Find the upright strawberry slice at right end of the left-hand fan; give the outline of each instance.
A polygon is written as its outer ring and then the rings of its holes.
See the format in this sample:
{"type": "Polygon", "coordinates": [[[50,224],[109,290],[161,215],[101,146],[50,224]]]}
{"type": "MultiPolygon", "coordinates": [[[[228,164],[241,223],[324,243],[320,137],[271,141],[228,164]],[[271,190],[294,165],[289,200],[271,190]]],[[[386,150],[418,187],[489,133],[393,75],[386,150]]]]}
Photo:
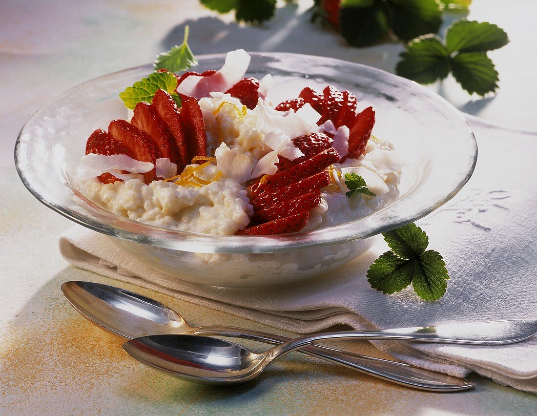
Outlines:
{"type": "Polygon", "coordinates": [[[198,100],[194,97],[183,98],[180,114],[185,127],[188,163],[190,163],[194,156],[207,156],[205,122],[198,100]]]}

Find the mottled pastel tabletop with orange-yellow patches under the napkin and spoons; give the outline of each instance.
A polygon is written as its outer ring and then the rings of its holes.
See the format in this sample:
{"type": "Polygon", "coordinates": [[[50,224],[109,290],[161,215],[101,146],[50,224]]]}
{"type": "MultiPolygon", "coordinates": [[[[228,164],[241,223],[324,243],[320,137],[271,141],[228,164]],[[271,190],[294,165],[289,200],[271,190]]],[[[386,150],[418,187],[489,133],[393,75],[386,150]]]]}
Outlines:
{"type": "MultiPolygon", "coordinates": [[[[520,0],[516,10],[508,2],[474,3],[468,18],[497,23],[512,40],[491,54],[500,72],[499,93],[484,99],[468,97],[450,79],[431,88],[483,119],[537,130],[535,54],[527,53],[535,51],[536,40],[527,33],[537,8],[520,0]]],[[[71,86],[151,61],[180,43],[185,23],[191,26],[190,44],[197,54],[243,47],[322,54],[393,70],[400,45],[347,48],[333,33],[307,23],[304,12],[310,4],[284,6],[263,27],[237,26],[231,16],[216,16],[197,0],[0,4],[4,102],[0,107],[4,195],[0,204],[0,413],[535,413],[535,396],[476,375],[469,377],[478,383],[473,391],[427,393],[297,353],[275,363],[252,383],[224,389],[185,383],[130,359],[121,350],[120,337],[91,325],[61,296],[60,285],[67,280],[120,283],[70,267],[61,258],[57,239],[72,223],[33,199],[13,166],[13,144],[23,123],[45,101],[71,86]],[[303,31],[308,31],[307,36],[303,31]]],[[[237,325],[296,335],[125,283],[121,286],[169,304],[193,325],[237,325]]],[[[340,346],[387,357],[368,342],[340,346]]]]}

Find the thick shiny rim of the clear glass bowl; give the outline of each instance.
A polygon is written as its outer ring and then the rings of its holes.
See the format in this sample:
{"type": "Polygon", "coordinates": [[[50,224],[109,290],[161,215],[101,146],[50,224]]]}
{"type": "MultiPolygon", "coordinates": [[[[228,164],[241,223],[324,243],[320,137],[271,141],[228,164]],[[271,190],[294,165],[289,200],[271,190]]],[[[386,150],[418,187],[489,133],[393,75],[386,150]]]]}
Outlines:
{"type": "MultiPolygon", "coordinates": [[[[91,218],[83,214],[79,214],[76,211],[69,209],[68,207],[64,207],[64,206],[54,203],[54,201],[47,200],[45,196],[43,196],[39,192],[39,189],[36,189],[32,186],[31,180],[26,176],[25,171],[23,170],[20,164],[20,158],[21,158],[19,155],[20,143],[21,143],[20,138],[25,132],[26,126],[30,124],[32,120],[34,120],[35,118],[38,118],[41,112],[45,111],[49,106],[52,106],[53,104],[55,104],[57,100],[60,100],[63,96],[66,96],[68,93],[77,89],[78,87],[84,86],[86,84],[90,84],[101,78],[118,75],[118,74],[128,72],[128,71],[148,69],[150,72],[151,70],[153,70],[153,64],[144,64],[144,65],[137,65],[136,67],[132,67],[132,68],[110,72],[109,74],[92,78],[89,81],[85,81],[83,83],[77,84],[71,87],[70,89],[64,91],[59,96],[47,101],[45,105],[40,107],[39,110],[36,111],[31,116],[31,118],[25,123],[25,125],[21,128],[19,135],[17,137],[17,141],[15,143],[14,162],[15,162],[15,166],[16,166],[16,169],[17,169],[17,172],[19,174],[21,181],[23,182],[24,186],[28,189],[28,191],[30,191],[30,193],[35,198],[37,198],[41,203],[43,203],[43,205],[47,206],[50,209],[53,209],[54,211],[61,214],[62,216],[69,218],[69,220],[79,225],[82,225],[85,228],[103,233],[111,237],[117,237],[117,238],[121,238],[124,240],[130,240],[132,242],[141,243],[141,244],[149,244],[153,246],[163,247],[165,249],[181,250],[181,251],[187,251],[187,252],[274,253],[274,252],[300,250],[300,249],[306,249],[310,247],[348,243],[354,240],[372,237],[382,232],[387,232],[387,231],[402,227],[402,225],[417,221],[419,220],[419,218],[422,218],[430,214],[432,211],[436,210],[437,208],[439,208],[440,206],[444,205],[446,202],[451,200],[453,196],[455,196],[460,191],[460,189],[468,182],[471,175],[473,174],[475,165],[477,162],[477,142],[475,140],[474,133],[472,132],[472,130],[470,129],[470,126],[468,125],[466,118],[463,116],[461,112],[456,110],[456,108],[453,107],[451,104],[449,104],[444,98],[438,96],[438,94],[432,92],[431,90],[426,89],[424,86],[416,82],[410,81],[409,79],[399,77],[395,74],[391,74],[390,72],[383,71],[378,68],[370,67],[369,65],[339,60],[339,59],[330,58],[330,57],[295,54],[295,53],[283,53],[283,52],[282,53],[248,52],[248,54],[251,55],[252,57],[254,56],[258,56],[258,57],[278,56],[278,57],[288,57],[289,59],[292,59],[292,58],[298,59],[302,57],[302,58],[307,58],[307,59],[319,60],[321,62],[325,62],[326,64],[331,63],[332,65],[333,64],[353,65],[355,68],[357,68],[361,72],[374,73],[376,76],[379,76],[381,78],[382,77],[387,77],[391,79],[395,78],[398,83],[401,83],[401,85],[411,87],[412,89],[417,89],[419,93],[425,94],[426,96],[429,96],[429,98],[432,98],[438,101],[439,104],[443,105],[446,110],[449,110],[452,113],[451,116],[453,116],[456,119],[459,119],[460,122],[466,125],[467,134],[468,134],[467,138],[469,138],[469,140],[471,141],[471,157],[469,158],[469,162],[467,163],[467,166],[466,166],[466,174],[461,176],[458,183],[449,192],[446,192],[444,194],[437,196],[437,198],[432,200],[429,203],[429,205],[423,206],[421,209],[416,210],[415,212],[411,213],[411,215],[393,216],[393,217],[390,217],[389,221],[386,221],[382,224],[375,225],[374,227],[372,225],[367,225],[366,227],[364,227],[364,229],[362,229],[359,232],[355,232],[355,230],[353,230],[353,227],[357,221],[364,220],[365,218],[371,219],[372,217],[374,217],[375,214],[380,213],[385,208],[379,211],[375,211],[374,213],[366,217],[358,218],[357,220],[345,222],[345,223],[338,224],[329,228],[322,228],[322,229],[311,230],[311,231],[300,231],[300,232],[288,233],[288,234],[280,234],[276,236],[220,236],[220,235],[210,235],[210,234],[202,234],[202,233],[195,233],[195,232],[188,232],[188,231],[179,231],[179,230],[174,230],[174,229],[164,229],[164,228],[156,227],[155,225],[143,224],[134,220],[129,220],[128,218],[125,218],[125,220],[133,222],[135,224],[134,227],[139,226],[140,229],[148,230],[150,232],[139,233],[139,232],[124,230],[118,227],[114,227],[113,225],[107,225],[98,221],[94,221],[91,218]],[[152,230],[153,232],[151,232],[152,230]]],[[[223,61],[225,57],[226,57],[226,54],[205,54],[205,55],[197,56],[197,59],[199,62],[202,62],[204,60],[209,60],[209,59],[220,59],[223,61]]],[[[66,187],[67,187],[67,184],[66,184],[66,187]]],[[[409,195],[405,199],[407,200],[412,199],[412,195],[409,195]]],[[[397,200],[395,200],[389,206],[393,205],[396,202],[397,200]]]]}

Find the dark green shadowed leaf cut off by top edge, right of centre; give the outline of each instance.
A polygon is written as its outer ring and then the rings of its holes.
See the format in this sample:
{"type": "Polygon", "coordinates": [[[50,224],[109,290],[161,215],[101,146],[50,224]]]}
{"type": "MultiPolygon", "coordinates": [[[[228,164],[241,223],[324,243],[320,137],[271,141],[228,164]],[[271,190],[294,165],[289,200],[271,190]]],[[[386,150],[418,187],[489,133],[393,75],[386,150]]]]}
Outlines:
{"type": "Polygon", "coordinates": [[[391,30],[409,41],[436,33],[443,6],[437,0],[343,0],[339,21],[343,37],[352,46],[371,46],[391,30]]]}

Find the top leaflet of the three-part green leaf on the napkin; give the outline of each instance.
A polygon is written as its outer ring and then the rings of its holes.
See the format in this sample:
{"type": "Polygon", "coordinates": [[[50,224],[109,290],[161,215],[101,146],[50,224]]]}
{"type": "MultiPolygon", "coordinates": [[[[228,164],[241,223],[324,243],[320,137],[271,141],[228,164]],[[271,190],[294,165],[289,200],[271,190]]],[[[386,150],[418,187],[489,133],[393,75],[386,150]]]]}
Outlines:
{"type": "Polygon", "coordinates": [[[413,222],[382,235],[391,251],[403,259],[419,257],[429,245],[429,237],[413,222]]]}

